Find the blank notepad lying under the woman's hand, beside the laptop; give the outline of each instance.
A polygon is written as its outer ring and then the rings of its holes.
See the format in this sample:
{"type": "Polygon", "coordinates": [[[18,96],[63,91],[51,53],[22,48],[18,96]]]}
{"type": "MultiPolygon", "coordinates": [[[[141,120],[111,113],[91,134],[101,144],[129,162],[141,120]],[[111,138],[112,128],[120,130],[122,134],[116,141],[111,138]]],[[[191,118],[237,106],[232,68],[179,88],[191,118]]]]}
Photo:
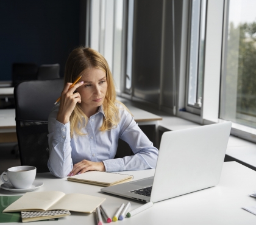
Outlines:
{"type": "Polygon", "coordinates": [[[104,184],[112,184],[114,182],[123,181],[127,178],[132,178],[130,175],[120,173],[106,173],[101,171],[87,171],[80,175],[71,176],[70,179],[79,179],[90,182],[99,182],[104,184]]]}

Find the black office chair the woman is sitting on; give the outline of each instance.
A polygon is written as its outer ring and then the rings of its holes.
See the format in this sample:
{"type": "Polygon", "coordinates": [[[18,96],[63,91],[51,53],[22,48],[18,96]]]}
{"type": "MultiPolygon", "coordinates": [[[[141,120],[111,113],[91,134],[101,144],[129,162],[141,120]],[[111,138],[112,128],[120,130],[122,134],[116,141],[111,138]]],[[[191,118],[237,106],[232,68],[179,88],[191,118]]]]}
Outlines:
{"type": "Polygon", "coordinates": [[[63,89],[63,78],[24,81],[15,86],[16,134],[21,165],[48,172],[48,116],[63,89]]]}

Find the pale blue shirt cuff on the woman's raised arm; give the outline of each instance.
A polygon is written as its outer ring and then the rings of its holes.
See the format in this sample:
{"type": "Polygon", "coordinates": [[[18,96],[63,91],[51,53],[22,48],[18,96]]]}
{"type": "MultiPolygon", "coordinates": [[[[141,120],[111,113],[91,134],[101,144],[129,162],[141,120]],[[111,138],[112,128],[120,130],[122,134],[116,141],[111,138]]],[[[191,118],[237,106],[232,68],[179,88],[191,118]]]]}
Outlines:
{"type": "Polygon", "coordinates": [[[63,124],[56,120],[53,138],[61,143],[70,142],[70,123],[63,124]]]}

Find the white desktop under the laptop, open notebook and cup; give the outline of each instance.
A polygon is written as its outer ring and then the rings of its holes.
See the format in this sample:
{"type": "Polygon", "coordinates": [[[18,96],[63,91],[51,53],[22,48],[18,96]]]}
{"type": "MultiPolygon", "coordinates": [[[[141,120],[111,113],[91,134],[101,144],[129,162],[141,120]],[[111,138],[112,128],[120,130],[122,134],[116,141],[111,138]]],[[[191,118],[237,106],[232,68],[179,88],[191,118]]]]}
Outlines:
{"type": "MultiPolygon", "coordinates": [[[[154,170],[122,171],[134,175],[134,180],[154,175],[154,170]]],[[[221,179],[218,185],[198,192],[178,196],[157,202],[151,208],[115,224],[256,224],[256,216],[243,206],[255,206],[256,199],[248,194],[256,190],[256,171],[237,162],[224,162],[221,179]]],[[[135,209],[141,202],[128,200],[102,193],[101,187],[66,181],[66,178],[54,178],[50,173],[38,173],[38,181],[44,185],[36,192],[59,190],[65,193],[84,193],[106,198],[103,206],[110,215],[114,215],[121,203],[130,201],[135,209]]],[[[2,181],[0,181],[2,184],[2,181]]],[[[0,195],[18,195],[0,189],[0,195]]],[[[94,213],[84,214],[71,212],[71,216],[59,221],[37,221],[30,224],[96,224],[94,213]]],[[[7,223],[6,223],[7,224],[7,223]]],[[[8,223],[9,224],[9,223],[8,223]]]]}

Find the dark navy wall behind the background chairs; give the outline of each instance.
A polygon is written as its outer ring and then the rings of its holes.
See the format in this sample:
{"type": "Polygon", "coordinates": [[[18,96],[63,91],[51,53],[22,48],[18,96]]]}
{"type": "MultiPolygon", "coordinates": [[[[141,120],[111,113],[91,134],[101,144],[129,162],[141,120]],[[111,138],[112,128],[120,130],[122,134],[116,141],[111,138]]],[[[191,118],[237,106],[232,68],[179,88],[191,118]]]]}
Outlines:
{"type": "Polygon", "coordinates": [[[79,45],[78,0],[0,1],[0,80],[12,80],[12,63],[60,64],[79,45]]]}

